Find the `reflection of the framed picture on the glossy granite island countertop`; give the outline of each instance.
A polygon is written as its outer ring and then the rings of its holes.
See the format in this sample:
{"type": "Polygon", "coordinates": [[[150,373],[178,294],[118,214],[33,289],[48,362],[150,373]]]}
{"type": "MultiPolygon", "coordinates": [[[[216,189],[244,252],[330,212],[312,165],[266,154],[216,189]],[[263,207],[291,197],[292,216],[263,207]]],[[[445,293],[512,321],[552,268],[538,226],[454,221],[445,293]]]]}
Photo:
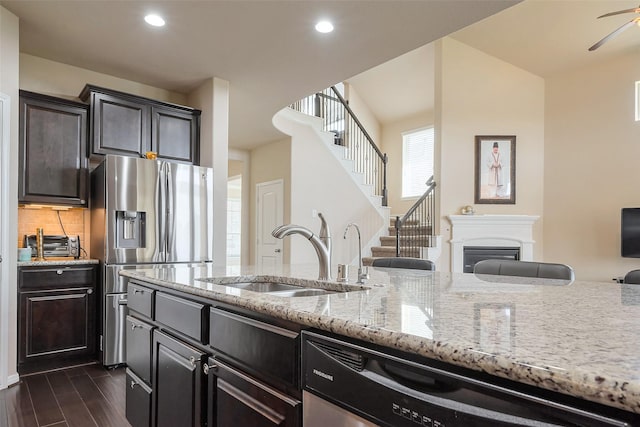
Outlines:
{"type": "Polygon", "coordinates": [[[513,304],[474,305],[476,344],[482,351],[511,351],[516,344],[516,307],[513,304]]]}

